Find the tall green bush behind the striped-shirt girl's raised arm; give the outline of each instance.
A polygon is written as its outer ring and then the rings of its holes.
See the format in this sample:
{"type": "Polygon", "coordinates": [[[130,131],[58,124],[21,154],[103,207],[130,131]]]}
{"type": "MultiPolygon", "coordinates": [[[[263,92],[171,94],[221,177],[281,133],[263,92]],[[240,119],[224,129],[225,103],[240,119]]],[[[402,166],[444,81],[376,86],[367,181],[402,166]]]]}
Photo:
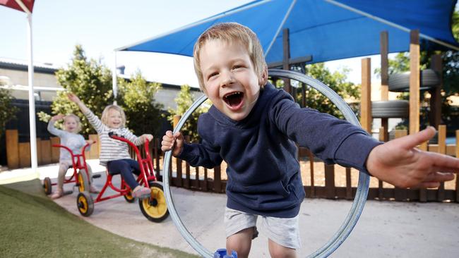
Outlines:
{"type": "MultiPolygon", "coordinates": [[[[78,106],[68,101],[66,94],[76,94],[96,116],[100,117],[105,106],[113,102],[110,70],[93,59],[88,61],[83,48],[76,45],[71,63],[66,68],[59,69],[56,78],[65,90],[58,92],[54,99],[51,105],[52,113],[74,113],[81,118],[81,133],[95,133],[78,106]]],[[[41,121],[47,122],[50,117],[45,113],[39,113],[41,121]]]]}

